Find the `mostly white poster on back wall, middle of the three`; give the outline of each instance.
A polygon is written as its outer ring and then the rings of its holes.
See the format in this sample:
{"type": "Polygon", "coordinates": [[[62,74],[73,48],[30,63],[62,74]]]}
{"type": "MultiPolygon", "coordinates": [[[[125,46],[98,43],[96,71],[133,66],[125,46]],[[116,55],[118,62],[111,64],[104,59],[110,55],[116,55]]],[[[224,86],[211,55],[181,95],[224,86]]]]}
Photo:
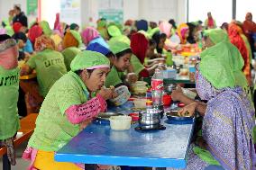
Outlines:
{"type": "Polygon", "coordinates": [[[60,21],[80,24],[81,10],[80,0],[61,0],[60,1],[60,21]]]}

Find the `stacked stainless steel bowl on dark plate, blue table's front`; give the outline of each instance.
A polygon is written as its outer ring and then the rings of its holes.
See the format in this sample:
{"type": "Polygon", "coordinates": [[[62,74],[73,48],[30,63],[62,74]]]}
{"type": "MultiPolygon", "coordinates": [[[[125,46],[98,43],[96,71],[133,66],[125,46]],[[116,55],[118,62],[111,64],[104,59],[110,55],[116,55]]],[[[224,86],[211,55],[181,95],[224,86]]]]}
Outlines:
{"type": "MultiPolygon", "coordinates": [[[[154,109],[152,109],[154,110],[154,109]]],[[[139,113],[139,124],[141,126],[152,126],[160,124],[160,112],[140,112],[139,113]]]]}

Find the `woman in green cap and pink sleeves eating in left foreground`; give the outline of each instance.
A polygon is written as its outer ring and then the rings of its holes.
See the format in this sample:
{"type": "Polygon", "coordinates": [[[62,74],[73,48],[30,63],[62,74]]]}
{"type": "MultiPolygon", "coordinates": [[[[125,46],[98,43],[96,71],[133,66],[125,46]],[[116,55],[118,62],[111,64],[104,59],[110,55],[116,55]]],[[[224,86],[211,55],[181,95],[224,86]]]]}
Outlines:
{"type": "Polygon", "coordinates": [[[41,170],[78,170],[84,165],[54,161],[54,152],[78,135],[99,112],[114,89],[104,87],[110,70],[109,60],[95,51],[85,50],[71,62],[71,71],[51,88],[41,105],[36,128],[23,158],[41,170]],[[97,92],[97,93],[96,93],[97,92]]]}

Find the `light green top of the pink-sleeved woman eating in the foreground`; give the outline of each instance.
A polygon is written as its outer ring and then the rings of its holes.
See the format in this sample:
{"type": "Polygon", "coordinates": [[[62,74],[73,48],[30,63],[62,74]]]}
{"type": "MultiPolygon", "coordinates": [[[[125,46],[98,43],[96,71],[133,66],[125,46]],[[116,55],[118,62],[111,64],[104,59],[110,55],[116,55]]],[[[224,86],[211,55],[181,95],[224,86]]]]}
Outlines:
{"type": "Polygon", "coordinates": [[[87,87],[77,74],[70,71],[59,78],[41,105],[29,146],[57,151],[77,136],[79,125],[70,123],[65,111],[72,105],[86,103],[87,99],[87,87]]]}

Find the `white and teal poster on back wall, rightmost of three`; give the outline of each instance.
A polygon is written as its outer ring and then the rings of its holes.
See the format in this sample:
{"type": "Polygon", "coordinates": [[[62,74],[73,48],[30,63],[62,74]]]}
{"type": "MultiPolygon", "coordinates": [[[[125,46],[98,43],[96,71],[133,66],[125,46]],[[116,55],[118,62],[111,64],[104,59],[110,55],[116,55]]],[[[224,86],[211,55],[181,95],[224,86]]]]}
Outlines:
{"type": "Polygon", "coordinates": [[[98,0],[98,16],[108,22],[123,23],[123,0],[98,0]]]}

